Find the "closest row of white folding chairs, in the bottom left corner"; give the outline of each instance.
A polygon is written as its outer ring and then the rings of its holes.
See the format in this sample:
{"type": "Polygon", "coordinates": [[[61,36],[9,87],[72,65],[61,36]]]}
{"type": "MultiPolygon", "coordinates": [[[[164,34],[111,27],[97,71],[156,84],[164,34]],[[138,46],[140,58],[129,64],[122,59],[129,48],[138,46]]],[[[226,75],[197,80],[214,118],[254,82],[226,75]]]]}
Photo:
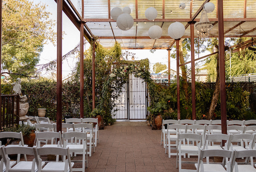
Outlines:
{"type": "MultiPolygon", "coordinates": [[[[37,148],[36,146],[31,147],[13,147],[8,148],[5,146],[0,147],[0,153],[2,159],[0,162],[0,171],[2,172],[72,172],[80,170],[73,169],[74,162],[71,162],[69,148],[61,147],[45,147],[37,148]],[[17,158],[16,161],[11,161],[9,155],[13,154],[27,154],[32,155],[33,161],[21,161],[17,158]],[[40,158],[41,155],[56,155],[56,161],[44,162],[40,158]],[[62,156],[62,162],[59,161],[59,155],[62,156]]],[[[83,172],[84,169],[81,169],[83,172]]]]}

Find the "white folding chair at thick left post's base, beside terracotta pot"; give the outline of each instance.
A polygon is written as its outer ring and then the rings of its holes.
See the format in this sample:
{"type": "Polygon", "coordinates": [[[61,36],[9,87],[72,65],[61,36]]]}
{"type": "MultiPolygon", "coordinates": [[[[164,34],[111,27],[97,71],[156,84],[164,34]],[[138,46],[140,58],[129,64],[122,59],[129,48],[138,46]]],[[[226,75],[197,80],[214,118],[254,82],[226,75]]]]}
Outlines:
{"type": "Polygon", "coordinates": [[[35,132],[36,134],[36,146],[40,147],[62,147],[62,138],[61,138],[61,131],[59,132],[52,132],[52,131],[44,131],[44,132],[35,132]],[[59,141],[57,141],[59,139],[59,141]],[[42,140],[50,140],[50,144],[48,141],[41,146],[42,140]]]}

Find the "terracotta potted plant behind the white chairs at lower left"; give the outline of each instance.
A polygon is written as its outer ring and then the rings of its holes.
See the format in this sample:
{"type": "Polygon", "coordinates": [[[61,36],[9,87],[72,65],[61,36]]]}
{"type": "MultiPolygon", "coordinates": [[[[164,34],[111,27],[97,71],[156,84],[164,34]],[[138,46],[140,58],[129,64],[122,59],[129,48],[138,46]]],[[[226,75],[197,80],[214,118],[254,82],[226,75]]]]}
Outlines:
{"type": "Polygon", "coordinates": [[[34,126],[29,126],[26,124],[15,125],[14,127],[4,128],[3,130],[11,132],[22,132],[24,144],[28,144],[29,147],[33,147],[36,138],[34,126]]]}

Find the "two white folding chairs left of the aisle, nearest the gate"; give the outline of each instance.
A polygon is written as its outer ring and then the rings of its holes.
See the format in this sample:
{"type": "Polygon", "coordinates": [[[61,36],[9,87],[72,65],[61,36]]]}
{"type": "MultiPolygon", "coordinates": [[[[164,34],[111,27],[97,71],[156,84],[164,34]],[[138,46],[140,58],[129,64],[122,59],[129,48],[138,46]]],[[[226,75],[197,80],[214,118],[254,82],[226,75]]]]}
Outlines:
{"type": "MultiPolygon", "coordinates": [[[[95,140],[95,146],[97,146],[97,141],[100,143],[99,139],[99,122],[98,118],[66,118],[66,123],[95,123],[96,125],[93,126],[93,133],[94,133],[94,140],[95,140]]],[[[72,129],[69,129],[69,131],[72,131],[72,129]]],[[[67,131],[68,132],[68,131],[67,131]]]]}

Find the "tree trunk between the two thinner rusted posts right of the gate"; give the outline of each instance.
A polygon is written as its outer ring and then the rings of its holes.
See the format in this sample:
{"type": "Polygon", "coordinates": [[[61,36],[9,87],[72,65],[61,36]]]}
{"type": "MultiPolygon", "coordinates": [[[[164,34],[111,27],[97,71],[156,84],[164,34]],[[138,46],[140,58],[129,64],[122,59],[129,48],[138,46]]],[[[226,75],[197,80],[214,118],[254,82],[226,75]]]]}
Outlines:
{"type": "MultiPolygon", "coordinates": [[[[183,57],[183,47],[182,45],[180,45],[179,47],[179,50],[180,50],[180,64],[183,64],[184,63],[184,57],[183,57]]],[[[185,65],[181,66],[180,67],[182,69],[182,78],[183,78],[183,84],[182,84],[182,88],[183,90],[185,91],[185,96],[186,96],[186,101],[187,101],[187,105],[189,103],[189,93],[188,93],[188,82],[187,82],[187,72],[186,72],[186,68],[185,68],[185,65]]]]}

